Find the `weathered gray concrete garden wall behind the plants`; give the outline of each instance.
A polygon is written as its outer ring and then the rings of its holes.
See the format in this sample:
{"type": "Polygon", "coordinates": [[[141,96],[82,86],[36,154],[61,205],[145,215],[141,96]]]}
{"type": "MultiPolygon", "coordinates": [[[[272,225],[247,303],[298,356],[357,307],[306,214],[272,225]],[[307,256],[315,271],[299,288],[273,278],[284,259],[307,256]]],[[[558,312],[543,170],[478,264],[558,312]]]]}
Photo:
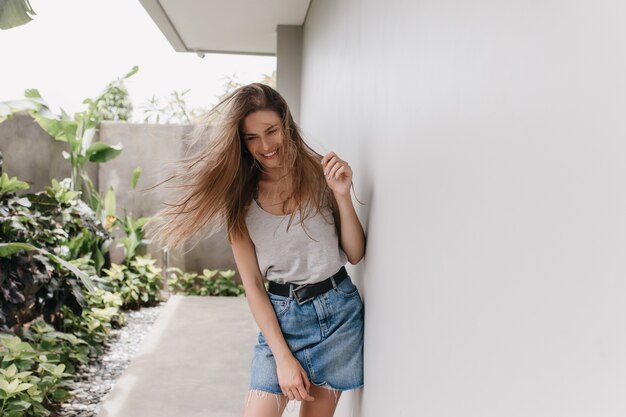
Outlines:
{"type": "MultiPolygon", "coordinates": [[[[160,186],[149,190],[168,175],[168,164],[181,158],[188,150],[187,134],[191,126],[103,122],[99,140],[122,144],[124,150],[115,159],[101,165],[90,164],[89,175],[101,193],[109,186],[116,191],[117,215],[124,210],[134,218],[155,214],[164,202],[172,202],[171,189],[160,186]],[[142,174],[135,191],[131,188],[132,171],[140,167],[142,174]],[[100,168],[100,169],[98,169],[100,168]]],[[[28,115],[17,115],[0,124],[0,152],[4,155],[4,172],[29,181],[29,191],[37,192],[50,184],[51,178],[70,175],[69,162],[61,152],[67,145],[52,139],[28,115]],[[36,152],[33,152],[36,149],[36,152]]],[[[149,251],[161,260],[159,247],[149,251]]],[[[113,260],[121,262],[123,253],[112,248],[113,260]]],[[[201,240],[195,247],[171,252],[170,265],[187,271],[235,269],[230,245],[223,231],[201,240]]]]}

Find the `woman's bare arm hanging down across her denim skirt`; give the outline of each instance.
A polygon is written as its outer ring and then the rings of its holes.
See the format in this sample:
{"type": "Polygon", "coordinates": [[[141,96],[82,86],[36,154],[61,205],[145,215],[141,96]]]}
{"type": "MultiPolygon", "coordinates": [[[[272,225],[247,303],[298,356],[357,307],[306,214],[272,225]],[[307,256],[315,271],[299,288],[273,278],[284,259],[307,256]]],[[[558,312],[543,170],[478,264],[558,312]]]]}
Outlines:
{"type": "Polygon", "coordinates": [[[278,325],[276,314],[267,297],[263,277],[259,270],[254,244],[250,236],[233,238],[231,242],[235,263],[241,275],[246,299],[252,316],[257,322],[276,361],[276,373],[280,387],[290,400],[312,401],[311,383],[300,362],[293,356],[278,325]]]}

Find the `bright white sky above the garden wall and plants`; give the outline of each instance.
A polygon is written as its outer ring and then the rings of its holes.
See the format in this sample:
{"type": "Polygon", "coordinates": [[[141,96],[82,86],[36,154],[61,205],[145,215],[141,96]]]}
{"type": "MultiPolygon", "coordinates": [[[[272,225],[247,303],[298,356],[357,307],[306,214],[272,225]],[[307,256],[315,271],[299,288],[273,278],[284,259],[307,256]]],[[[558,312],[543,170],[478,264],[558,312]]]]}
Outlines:
{"type": "MultiPolygon", "coordinates": [[[[20,99],[36,88],[54,111],[83,110],[85,98],[134,65],[125,81],[137,106],[172,90],[184,91],[190,107],[215,104],[225,75],[242,83],[271,74],[276,58],[175,52],[139,0],[30,0],[36,16],[0,30],[0,101],[20,99]]],[[[162,100],[163,102],[164,100],[162,100]]]]}

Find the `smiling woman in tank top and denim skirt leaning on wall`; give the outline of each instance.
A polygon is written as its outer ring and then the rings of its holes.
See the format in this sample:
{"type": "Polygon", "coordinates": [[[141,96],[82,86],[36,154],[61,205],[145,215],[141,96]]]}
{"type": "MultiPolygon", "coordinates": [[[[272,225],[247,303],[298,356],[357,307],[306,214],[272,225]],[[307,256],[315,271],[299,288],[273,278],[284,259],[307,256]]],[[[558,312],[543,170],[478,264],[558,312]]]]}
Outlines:
{"type": "Polygon", "coordinates": [[[173,177],[182,198],[150,233],[176,246],[227,228],[261,329],[244,416],[278,417],[288,400],[301,416],[332,416],[341,391],[363,385],[363,304],[344,268],[365,250],[352,169],[306,145],[271,87],[244,86],[220,107],[207,147],[173,177]]]}

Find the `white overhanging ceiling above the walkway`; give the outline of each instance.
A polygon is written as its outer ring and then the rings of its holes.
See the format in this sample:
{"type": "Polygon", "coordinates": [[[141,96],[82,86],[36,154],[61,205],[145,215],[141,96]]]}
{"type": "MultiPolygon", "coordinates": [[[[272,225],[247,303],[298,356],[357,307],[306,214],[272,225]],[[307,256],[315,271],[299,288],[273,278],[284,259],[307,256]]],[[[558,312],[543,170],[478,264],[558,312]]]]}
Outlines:
{"type": "Polygon", "coordinates": [[[310,0],[139,0],[179,52],[276,54],[276,26],[302,25],[310,0]]]}

